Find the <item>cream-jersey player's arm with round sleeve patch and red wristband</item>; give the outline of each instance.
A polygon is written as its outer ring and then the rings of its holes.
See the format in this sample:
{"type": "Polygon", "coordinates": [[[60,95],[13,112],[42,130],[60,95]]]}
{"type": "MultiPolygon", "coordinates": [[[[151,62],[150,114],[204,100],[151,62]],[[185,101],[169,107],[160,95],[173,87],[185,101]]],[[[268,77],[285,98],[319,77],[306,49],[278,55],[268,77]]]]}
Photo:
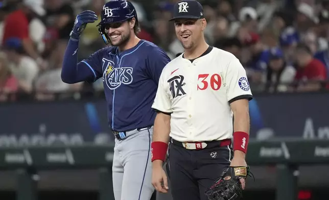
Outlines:
{"type": "Polygon", "coordinates": [[[246,76],[246,70],[237,58],[233,58],[225,73],[227,101],[233,112],[233,159],[240,160],[232,165],[245,165],[245,155],[249,140],[249,101],[252,93],[246,76]]]}

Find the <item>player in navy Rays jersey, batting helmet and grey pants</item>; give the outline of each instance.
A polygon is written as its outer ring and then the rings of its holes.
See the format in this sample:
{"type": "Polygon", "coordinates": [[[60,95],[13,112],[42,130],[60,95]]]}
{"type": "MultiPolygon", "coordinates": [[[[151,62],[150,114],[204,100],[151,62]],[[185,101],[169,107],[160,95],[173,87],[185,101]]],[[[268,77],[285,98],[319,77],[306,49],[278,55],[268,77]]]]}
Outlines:
{"type": "Polygon", "coordinates": [[[68,84],[103,79],[105,109],[115,135],[115,200],[148,200],[154,192],[150,148],[156,113],[151,106],[161,71],[170,58],[155,44],[137,38],[138,18],[130,2],[111,0],[104,5],[98,24],[101,37],[110,46],[77,63],[80,34],[95,20],[92,11],[77,16],[61,78],[68,84]]]}

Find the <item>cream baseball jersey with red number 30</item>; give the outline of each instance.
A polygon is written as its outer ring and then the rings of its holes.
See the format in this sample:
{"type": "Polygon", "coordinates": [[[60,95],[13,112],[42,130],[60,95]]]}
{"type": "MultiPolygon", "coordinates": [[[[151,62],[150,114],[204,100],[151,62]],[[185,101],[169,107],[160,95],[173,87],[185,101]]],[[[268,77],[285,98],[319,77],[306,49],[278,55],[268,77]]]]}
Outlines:
{"type": "Polygon", "coordinates": [[[162,70],[152,105],[171,114],[170,136],[180,142],[232,138],[230,103],[252,99],[246,71],[231,53],[209,46],[199,58],[181,54],[162,70]]]}

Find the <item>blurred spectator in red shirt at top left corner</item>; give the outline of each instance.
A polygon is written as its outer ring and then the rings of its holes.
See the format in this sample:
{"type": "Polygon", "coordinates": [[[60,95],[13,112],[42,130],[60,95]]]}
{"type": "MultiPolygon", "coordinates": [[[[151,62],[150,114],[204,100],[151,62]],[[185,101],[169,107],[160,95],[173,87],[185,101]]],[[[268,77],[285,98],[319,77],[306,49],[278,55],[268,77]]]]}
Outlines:
{"type": "Polygon", "coordinates": [[[8,38],[16,37],[22,40],[23,48],[27,54],[42,65],[43,60],[29,36],[29,21],[36,15],[43,16],[43,0],[23,0],[19,9],[10,13],[4,21],[3,43],[8,38]]]}

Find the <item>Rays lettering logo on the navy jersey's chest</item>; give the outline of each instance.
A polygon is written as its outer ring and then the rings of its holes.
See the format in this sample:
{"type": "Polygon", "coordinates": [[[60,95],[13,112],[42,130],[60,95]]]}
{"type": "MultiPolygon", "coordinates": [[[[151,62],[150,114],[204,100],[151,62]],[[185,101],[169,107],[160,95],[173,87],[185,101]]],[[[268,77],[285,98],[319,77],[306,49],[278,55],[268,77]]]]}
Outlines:
{"type": "Polygon", "coordinates": [[[103,58],[103,82],[110,90],[114,90],[121,84],[132,83],[132,67],[114,68],[114,62],[103,58]]]}

